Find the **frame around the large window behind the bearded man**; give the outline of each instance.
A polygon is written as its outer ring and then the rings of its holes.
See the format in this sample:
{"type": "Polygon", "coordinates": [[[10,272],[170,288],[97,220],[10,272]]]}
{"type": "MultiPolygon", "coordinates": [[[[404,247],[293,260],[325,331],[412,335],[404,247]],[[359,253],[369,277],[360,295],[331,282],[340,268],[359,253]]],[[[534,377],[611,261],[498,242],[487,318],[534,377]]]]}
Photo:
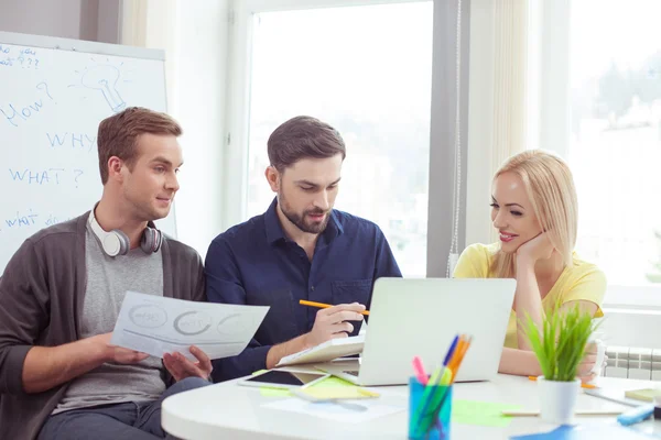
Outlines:
{"type": "MultiPolygon", "coordinates": [[[[430,183],[426,276],[445,276],[451,249],[455,195],[455,57],[457,4],[462,0],[232,0],[228,12],[229,59],[227,82],[227,133],[224,142],[221,229],[246,221],[250,121],[252,22],[261,12],[434,2],[432,62],[430,183]],[[453,33],[454,32],[454,33],[453,33]],[[440,40],[442,38],[442,41],[440,40]],[[441,41],[443,44],[437,44],[441,41]],[[452,66],[452,68],[451,68],[452,66]],[[448,147],[449,146],[449,147],[448,147]],[[434,227],[431,227],[434,226],[434,227]]],[[[469,1],[462,3],[462,168],[466,169],[468,112],[469,1]]],[[[459,184],[458,249],[465,246],[466,173],[459,184]]],[[[267,207],[264,207],[266,209],[267,207]]]]}

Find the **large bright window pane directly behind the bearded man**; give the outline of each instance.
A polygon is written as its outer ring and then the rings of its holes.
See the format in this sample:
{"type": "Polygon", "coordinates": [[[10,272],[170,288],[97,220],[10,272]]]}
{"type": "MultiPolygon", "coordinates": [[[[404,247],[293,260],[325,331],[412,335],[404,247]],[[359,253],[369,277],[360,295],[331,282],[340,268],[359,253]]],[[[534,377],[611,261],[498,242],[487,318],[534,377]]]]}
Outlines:
{"type": "Polygon", "coordinates": [[[405,276],[424,276],[433,2],[252,15],[246,218],[272,198],[267,140],[308,114],[347,144],[335,208],[376,222],[405,276]]]}

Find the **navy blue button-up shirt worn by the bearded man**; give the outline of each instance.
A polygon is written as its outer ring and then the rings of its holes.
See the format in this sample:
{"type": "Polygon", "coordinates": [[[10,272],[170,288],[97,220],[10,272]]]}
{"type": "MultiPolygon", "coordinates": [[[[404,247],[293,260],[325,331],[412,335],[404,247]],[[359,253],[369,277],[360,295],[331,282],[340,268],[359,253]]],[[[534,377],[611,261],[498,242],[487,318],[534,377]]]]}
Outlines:
{"type": "MultiPolygon", "coordinates": [[[[239,355],[214,362],[216,382],[251,374],[267,366],[267,353],[312,330],[317,308],[300,299],[326,304],[365,304],[373,282],[402,276],[386,237],[371,221],[333,210],[312,262],[288,239],[273,200],[267,212],[216,237],[207,252],[205,273],[209,301],[270,306],[254,339],[239,355]]],[[[360,323],[354,322],[358,334],[360,323]]]]}

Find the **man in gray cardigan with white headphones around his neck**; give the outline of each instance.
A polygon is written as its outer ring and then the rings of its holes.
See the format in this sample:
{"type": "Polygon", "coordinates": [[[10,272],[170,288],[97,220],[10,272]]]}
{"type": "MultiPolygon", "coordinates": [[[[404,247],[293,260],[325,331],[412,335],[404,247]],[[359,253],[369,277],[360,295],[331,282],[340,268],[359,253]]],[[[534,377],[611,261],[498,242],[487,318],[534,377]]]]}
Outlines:
{"type": "Polygon", "coordinates": [[[35,233],[0,277],[0,438],[155,439],[161,402],[207,385],[208,356],[163,360],[110,344],[127,290],[204,300],[202,260],[165,238],[182,130],[130,108],[101,121],[104,193],[91,211],[35,233]]]}

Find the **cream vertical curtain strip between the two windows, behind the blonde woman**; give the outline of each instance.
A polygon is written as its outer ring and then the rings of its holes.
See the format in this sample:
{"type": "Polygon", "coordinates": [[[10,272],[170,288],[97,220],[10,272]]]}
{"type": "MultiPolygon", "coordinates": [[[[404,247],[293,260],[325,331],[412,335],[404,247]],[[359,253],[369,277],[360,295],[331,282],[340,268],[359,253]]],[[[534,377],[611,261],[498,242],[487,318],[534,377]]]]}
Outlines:
{"type": "Polygon", "coordinates": [[[490,243],[491,178],[527,148],[530,0],[473,0],[466,243],[490,243]]]}

